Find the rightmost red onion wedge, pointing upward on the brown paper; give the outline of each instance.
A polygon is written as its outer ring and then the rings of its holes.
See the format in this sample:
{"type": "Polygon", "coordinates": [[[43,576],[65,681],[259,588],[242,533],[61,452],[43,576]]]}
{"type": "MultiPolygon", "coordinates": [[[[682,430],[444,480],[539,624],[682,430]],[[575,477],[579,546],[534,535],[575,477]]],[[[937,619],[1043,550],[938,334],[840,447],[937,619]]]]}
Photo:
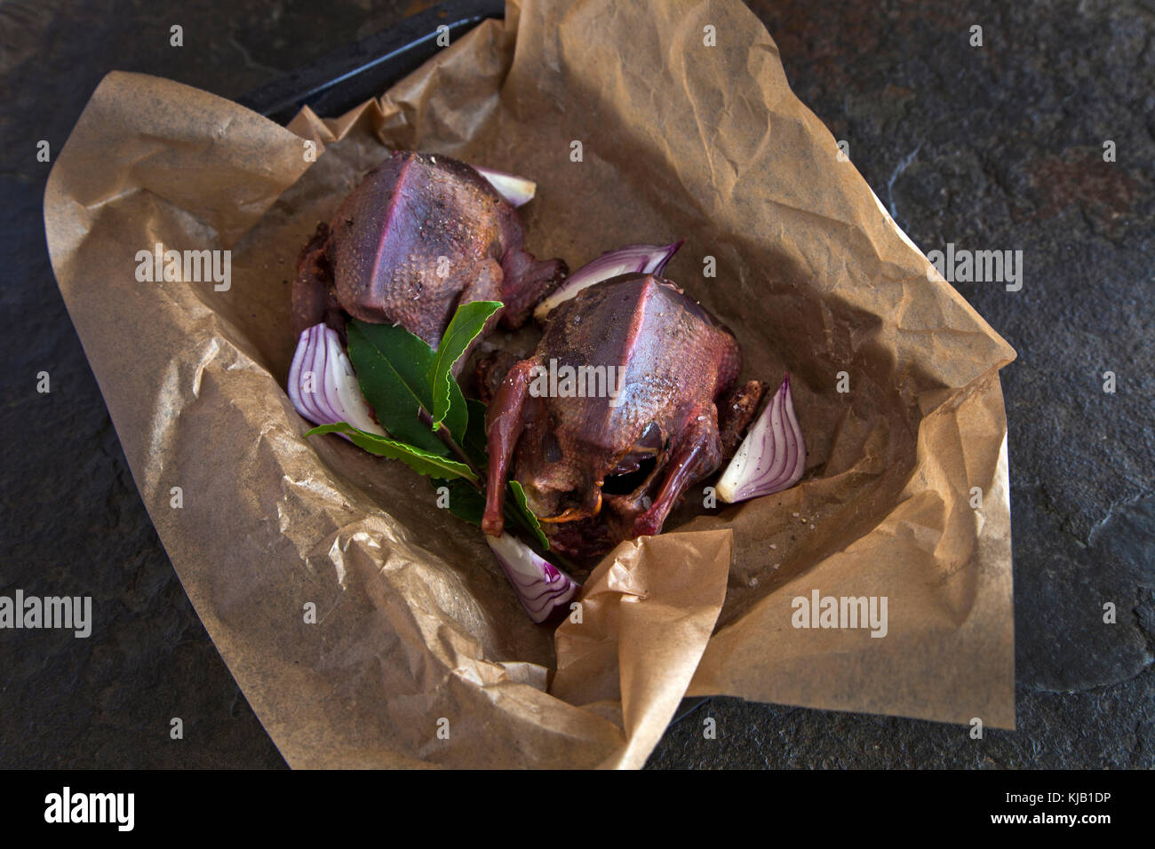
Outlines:
{"type": "Polygon", "coordinates": [[[790,394],[790,375],[774,393],[714,491],[733,504],[788,490],[806,470],[806,442],[798,427],[790,394]]]}

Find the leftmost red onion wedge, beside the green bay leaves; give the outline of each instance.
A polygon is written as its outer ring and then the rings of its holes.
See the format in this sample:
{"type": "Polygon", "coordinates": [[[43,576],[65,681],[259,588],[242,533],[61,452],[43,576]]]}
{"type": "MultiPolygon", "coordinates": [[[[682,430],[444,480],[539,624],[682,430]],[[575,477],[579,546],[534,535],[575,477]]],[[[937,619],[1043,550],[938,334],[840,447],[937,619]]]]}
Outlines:
{"type": "Polygon", "coordinates": [[[341,337],[328,325],[313,325],[301,333],[289,366],[288,389],[297,412],[313,424],[348,422],[363,431],[387,435],[362,395],[341,337]]]}

